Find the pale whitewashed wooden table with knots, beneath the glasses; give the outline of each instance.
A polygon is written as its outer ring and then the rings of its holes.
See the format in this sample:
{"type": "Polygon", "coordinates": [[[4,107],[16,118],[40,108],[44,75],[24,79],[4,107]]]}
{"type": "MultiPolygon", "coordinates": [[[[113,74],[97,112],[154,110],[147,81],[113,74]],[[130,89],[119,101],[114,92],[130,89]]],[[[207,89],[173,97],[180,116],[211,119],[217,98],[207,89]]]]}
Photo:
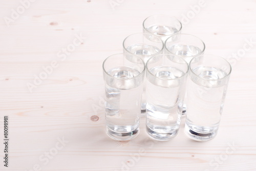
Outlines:
{"type": "Polygon", "coordinates": [[[0,1],[1,170],[256,170],[255,1],[30,1],[0,1]],[[219,133],[208,142],[188,139],[184,118],[166,142],[146,136],[144,118],[134,140],[105,133],[101,64],[159,13],[180,18],[205,54],[232,64],[219,133]]]}

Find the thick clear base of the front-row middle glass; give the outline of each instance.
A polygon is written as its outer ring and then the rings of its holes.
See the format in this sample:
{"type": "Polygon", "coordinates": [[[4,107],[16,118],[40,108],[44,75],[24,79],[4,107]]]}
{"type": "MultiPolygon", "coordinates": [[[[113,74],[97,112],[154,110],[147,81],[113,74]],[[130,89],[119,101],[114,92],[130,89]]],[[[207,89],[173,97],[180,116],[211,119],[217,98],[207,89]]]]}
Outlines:
{"type": "Polygon", "coordinates": [[[179,130],[177,129],[169,133],[159,133],[159,132],[153,131],[152,129],[150,129],[150,127],[146,126],[146,132],[154,140],[167,141],[169,139],[174,138],[178,134],[179,130]]]}

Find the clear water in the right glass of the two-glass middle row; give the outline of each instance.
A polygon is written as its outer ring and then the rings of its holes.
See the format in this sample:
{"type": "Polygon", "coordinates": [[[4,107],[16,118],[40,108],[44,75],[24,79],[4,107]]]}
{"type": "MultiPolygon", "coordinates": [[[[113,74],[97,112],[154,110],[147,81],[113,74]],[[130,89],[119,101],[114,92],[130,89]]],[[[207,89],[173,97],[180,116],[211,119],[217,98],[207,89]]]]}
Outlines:
{"type": "Polygon", "coordinates": [[[195,57],[202,52],[199,47],[182,44],[175,44],[167,47],[167,49],[173,54],[183,57],[187,63],[190,62],[192,57],[195,57]]]}

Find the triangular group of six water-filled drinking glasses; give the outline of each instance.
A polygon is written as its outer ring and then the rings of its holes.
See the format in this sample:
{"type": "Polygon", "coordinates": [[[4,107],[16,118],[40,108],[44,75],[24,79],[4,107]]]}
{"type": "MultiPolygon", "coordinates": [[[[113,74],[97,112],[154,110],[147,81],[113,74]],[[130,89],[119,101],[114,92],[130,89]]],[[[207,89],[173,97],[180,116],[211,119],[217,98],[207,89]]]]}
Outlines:
{"type": "Polygon", "coordinates": [[[143,33],[124,39],[123,54],[104,60],[106,132],[111,138],[135,138],[141,115],[155,140],[175,137],[182,115],[189,138],[216,136],[231,66],[222,57],[204,55],[204,42],[181,30],[175,17],[147,17],[143,33]]]}

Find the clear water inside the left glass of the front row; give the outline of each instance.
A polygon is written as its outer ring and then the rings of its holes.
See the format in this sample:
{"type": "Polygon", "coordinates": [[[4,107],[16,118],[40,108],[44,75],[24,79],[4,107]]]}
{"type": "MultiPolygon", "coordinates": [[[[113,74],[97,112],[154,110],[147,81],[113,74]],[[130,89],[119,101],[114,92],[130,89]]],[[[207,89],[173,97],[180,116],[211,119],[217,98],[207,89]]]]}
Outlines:
{"type": "MultiPolygon", "coordinates": [[[[105,85],[105,119],[111,135],[125,138],[139,127],[142,83],[131,79],[140,74],[130,67],[117,67],[108,71],[119,79],[110,79],[105,85]],[[122,134],[124,133],[124,134],[122,134]]],[[[136,132],[136,131],[135,131],[136,132]]]]}

